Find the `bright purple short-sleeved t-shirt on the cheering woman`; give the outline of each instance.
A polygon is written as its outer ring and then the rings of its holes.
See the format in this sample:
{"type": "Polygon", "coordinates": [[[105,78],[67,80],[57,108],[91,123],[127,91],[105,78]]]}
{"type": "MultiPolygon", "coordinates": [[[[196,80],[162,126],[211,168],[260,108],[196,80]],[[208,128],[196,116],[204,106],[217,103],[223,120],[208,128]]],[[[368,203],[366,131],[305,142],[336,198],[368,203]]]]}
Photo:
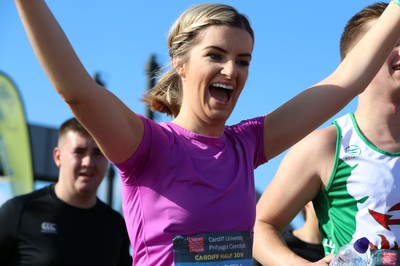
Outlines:
{"type": "Polygon", "coordinates": [[[173,265],[175,235],[252,232],[264,118],[227,126],[222,137],[142,120],[138,150],[116,164],[134,264],[173,265]]]}

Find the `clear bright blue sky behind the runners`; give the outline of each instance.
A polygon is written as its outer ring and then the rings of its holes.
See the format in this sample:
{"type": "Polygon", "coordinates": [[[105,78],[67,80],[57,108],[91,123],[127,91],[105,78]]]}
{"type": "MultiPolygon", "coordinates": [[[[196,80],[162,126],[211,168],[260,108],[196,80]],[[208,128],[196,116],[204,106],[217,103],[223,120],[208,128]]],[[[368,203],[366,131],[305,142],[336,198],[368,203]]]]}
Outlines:
{"type": "MultiPolygon", "coordinates": [[[[168,64],[170,25],[187,7],[201,2],[208,1],[47,1],[88,72],[99,72],[110,91],[142,114],[145,107],[139,99],[146,89],[144,68],[149,56],[155,54],[159,64],[168,64]]],[[[255,31],[248,82],[228,124],[271,112],[329,75],[340,62],[339,40],[347,20],[373,3],[219,2],[246,14],[255,31]]],[[[57,127],[71,112],[36,60],[13,1],[2,1],[0,25],[0,71],[17,85],[28,123],[57,127]]],[[[355,104],[335,117],[354,110],[355,104]]],[[[156,120],[169,118],[157,115],[156,120]]],[[[274,158],[256,170],[258,190],[268,185],[281,159],[274,158]]]]}

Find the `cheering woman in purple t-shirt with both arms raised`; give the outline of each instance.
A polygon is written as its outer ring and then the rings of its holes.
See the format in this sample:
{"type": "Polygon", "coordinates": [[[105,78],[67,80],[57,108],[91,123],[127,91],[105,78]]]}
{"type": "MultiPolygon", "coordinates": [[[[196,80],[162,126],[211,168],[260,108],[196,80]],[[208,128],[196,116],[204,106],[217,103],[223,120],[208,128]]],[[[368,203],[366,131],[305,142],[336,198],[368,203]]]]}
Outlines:
{"type": "Polygon", "coordinates": [[[168,35],[171,70],[144,97],[173,116],[155,123],[92,79],[44,1],[16,3],[54,88],[119,169],[135,265],[251,264],[253,170],[362,92],[400,36],[400,7],[390,4],[326,79],[268,115],[227,126],[248,77],[253,30],[231,6],[191,6],[168,35]]]}

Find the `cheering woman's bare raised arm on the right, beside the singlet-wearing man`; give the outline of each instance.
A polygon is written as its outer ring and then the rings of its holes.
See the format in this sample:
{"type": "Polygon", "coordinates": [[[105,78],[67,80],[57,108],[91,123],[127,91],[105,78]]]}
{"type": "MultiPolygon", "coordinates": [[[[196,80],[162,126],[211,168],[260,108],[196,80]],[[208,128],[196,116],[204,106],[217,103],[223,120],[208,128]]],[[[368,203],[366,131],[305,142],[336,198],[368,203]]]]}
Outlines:
{"type": "Polygon", "coordinates": [[[266,157],[285,151],[363,92],[399,38],[400,6],[392,1],[330,76],[265,117],[266,157]]]}

